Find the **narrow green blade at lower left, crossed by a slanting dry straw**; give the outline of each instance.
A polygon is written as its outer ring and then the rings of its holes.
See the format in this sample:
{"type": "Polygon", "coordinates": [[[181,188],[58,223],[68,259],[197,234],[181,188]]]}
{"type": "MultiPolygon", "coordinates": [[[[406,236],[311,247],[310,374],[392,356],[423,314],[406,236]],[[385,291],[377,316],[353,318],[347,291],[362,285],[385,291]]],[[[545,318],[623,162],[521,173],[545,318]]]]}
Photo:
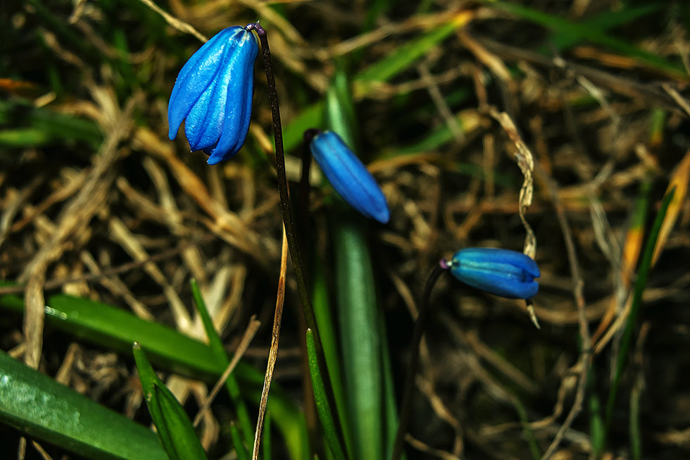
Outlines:
{"type": "MultiPolygon", "coordinates": [[[[225,353],[225,347],[222,345],[220,335],[218,335],[218,331],[216,331],[215,327],[213,326],[213,320],[208,314],[206,302],[203,301],[201,290],[199,290],[199,285],[194,279],[191,280],[190,284],[192,285],[192,297],[194,297],[196,311],[199,312],[201,323],[203,323],[203,328],[206,330],[208,344],[216,358],[222,362],[225,362],[225,365],[227,366],[227,364],[230,364],[230,358],[227,356],[227,353],[225,353]]],[[[242,394],[240,394],[239,384],[237,383],[234,373],[228,375],[227,380],[225,380],[225,387],[227,388],[227,392],[230,394],[232,403],[237,411],[237,420],[239,421],[239,427],[237,429],[240,431],[240,433],[242,433],[242,439],[244,439],[242,449],[244,449],[244,453],[249,456],[249,451],[246,449],[248,449],[248,447],[253,443],[253,430],[251,428],[252,425],[249,419],[249,410],[247,409],[246,404],[244,404],[244,399],[242,399],[242,394]]],[[[235,447],[239,449],[237,444],[235,444],[235,447]]],[[[239,456],[240,453],[238,452],[237,455],[239,456]]]]}

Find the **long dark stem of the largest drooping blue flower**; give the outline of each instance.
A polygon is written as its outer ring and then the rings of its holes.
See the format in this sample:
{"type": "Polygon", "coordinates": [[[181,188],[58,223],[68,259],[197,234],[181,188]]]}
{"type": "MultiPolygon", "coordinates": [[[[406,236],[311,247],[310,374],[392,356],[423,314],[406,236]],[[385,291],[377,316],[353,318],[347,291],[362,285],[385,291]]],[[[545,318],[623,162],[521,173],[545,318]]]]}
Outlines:
{"type": "Polygon", "coordinates": [[[255,30],[256,35],[258,35],[259,40],[261,41],[263,68],[266,72],[266,81],[268,82],[268,98],[270,99],[271,116],[273,118],[273,139],[275,139],[275,170],[278,180],[278,194],[280,194],[280,211],[282,213],[283,224],[285,226],[285,235],[287,236],[287,245],[290,250],[290,258],[292,259],[292,266],[295,271],[297,290],[299,291],[299,297],[302,303],[304,319],[307,323],[307,328],[311,329],[313,332],[316,357],[318,359],[319,367],[322,369],[322,378],[327,390],[327,396],[330,400],[331,406],[335,407],[332,386],[327,372],[326,359],[321,344],[321,337],[318,332],[318,325],[316,323],[314,309],[311,305],[311,297],[309,296],[309,289],[307,287],[306,277],[304,275],[302,257],[299,253],[294,222],[292,220],[289,189],[287,185],[287,177],[285,175],[285,153],[283,150],[282,124],[280,123],[280,109],[278,108],[278,95],[275,87],[275,77],[273,76],[273,71],[271,68],[268,37],[266,36],[266,31],[264,28],[258,23],[249,24],[244,28],[246,30],[255,30]]]}

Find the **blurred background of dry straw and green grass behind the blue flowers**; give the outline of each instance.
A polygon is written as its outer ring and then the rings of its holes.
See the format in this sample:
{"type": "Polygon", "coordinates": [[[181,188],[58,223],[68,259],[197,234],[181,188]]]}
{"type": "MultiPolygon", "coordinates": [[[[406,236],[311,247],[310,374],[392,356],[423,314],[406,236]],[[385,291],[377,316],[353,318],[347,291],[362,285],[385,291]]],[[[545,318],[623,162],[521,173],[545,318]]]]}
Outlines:
{"type": "MultiPolygon", "coordinates": [[[[261,64],[231,161],[209,167],[182,135],[170,142],[166,112],[200,40],[256,20],[293,197],[303,131],[332,128],[391,209],[388,225],[353,216],[318,170],[298,201],[345,455],[389,455],[434,264],[461,247],[522,249],[524,141],[541,328],[523,303],[441,278],[408,458],[686,457],[683,0],[2,1],[2,452],[165,458],[142,429],[152,419],[132,342],[194,419],[256,315],[261,328],[196,428],[209,459],[251,452],[282,231],[261,64]]],[[[288,278],[264,458],[334,453],[303,328],[288,278]]]]}

